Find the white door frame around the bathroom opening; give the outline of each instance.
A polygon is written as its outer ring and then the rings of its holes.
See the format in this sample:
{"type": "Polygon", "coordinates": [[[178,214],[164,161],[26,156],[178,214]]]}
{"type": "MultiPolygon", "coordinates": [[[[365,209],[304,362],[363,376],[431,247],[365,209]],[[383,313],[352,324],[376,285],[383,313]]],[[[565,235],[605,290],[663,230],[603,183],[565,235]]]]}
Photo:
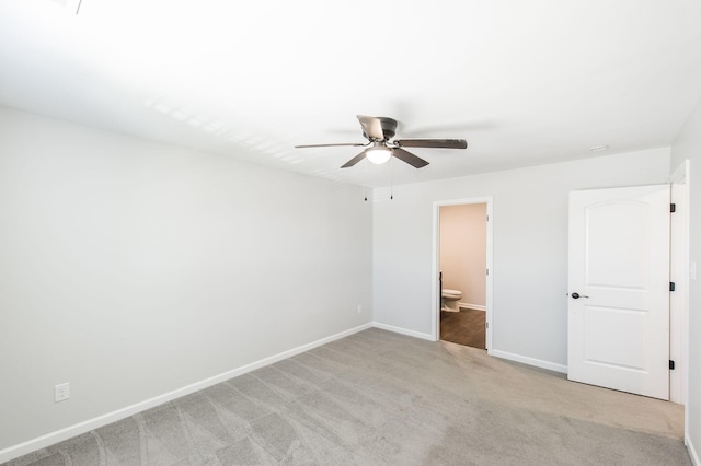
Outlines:
{"type": "Polygon", "coordinates": [[[434,341],[440,340],[440,289],[438,286],[438,273],[440,272],[440,208],[444,206],[463,206],[470,203],[486,205],[486,329],[485,343],[486,353],[492,354],[492,330],[494,329],[493,319],[493,197],[471,197],[466,199],[449,199],[434,201],[434,219],[433,219],[433,265],[432,265],[432,296],[433,296],[433,322],[430,325],[430,335],[434,341]]]}

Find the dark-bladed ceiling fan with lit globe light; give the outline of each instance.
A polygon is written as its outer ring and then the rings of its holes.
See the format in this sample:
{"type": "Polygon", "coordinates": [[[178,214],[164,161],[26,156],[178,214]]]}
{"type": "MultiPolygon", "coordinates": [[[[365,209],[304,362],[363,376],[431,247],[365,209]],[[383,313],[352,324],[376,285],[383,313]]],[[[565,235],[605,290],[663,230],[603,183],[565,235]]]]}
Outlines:
{"type": "Polygon", "coordinates": [[[363,127],[363,137],[368,140],[366,143],[336,143],[336,144],[303,144],[295,148],[331,148],[338,145],[364,147],[365,150],[343,164],[342,168],[347,168],[368,159],[372,163],[384,163],[394,156],[415,168],[428,165],[428,162],[404,150],[403,148],[437,148],[437,149],[467,149],[468,142],[464,139],[397,139],[397,120],[387,117],[371,117],[358,115],[358,121],[363,127]]]}

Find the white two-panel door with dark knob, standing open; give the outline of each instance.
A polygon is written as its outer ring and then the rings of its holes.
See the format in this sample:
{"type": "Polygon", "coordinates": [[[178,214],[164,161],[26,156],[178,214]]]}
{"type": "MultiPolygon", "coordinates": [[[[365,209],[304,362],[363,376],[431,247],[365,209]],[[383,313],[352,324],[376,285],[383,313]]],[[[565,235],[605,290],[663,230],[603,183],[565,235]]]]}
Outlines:
{"type": "Polygon", "coordinates": [[[570,193],[571,381],[669,399],[669,186],[570,193]]]}

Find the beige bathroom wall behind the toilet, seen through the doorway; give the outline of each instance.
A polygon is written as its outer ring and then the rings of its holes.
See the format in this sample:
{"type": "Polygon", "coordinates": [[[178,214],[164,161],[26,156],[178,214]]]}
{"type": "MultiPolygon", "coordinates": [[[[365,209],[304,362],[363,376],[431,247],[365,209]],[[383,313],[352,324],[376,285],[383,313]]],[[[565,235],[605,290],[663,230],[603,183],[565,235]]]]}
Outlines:
{"type": "Polygon", "coordinates": [[[443,288],[460,290],[459,301],[486,306],[486,203],[440,207],[443,288]]]}

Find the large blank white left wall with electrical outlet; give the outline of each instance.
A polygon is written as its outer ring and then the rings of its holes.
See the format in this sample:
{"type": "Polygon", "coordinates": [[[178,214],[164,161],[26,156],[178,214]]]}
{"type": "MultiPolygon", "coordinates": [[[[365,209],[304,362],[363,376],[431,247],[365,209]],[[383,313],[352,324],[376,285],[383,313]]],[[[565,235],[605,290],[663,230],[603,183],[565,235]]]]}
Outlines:
{"type": "Polygon", "coordinates": [[[363,198],[0,107],[0,453],[370,323],[363,198]]]}

